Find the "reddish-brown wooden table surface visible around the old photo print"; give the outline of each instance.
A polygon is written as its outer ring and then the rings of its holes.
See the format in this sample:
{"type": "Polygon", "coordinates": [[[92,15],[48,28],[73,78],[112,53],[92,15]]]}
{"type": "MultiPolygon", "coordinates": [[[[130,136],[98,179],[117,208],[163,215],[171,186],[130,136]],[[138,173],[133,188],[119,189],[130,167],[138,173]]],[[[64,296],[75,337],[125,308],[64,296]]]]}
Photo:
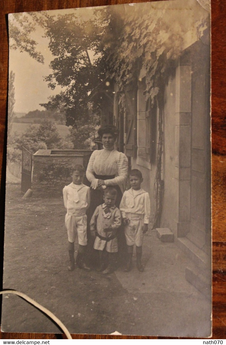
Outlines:
{"type": "MultiPolygon", "coordinates": [[[[0,165],[2,166],[1,179],[1,224],[4,219],[4,184],[6,164],[6,105],[7,105],[7,80],[8,80],[8,38],[6,14],[14,12],[41,11],[53,9],[65,9],[88,6],[103,6],[130,2],[144,2],[144,0],[1,0],[0,1],[0,165]]],[[[198,0],[200,2],[200,0],[198,0]]],[[[201,1],[202,2],[202,1],[201,1]]],[[[220,121],[221,130],[213,129],[212,141],[224,142],[226,134],[226,1],[212,0],[212,118],[220,121]]],[[[226,147],[222,151],[226,152],[226,147]]],[[[217,167],[213,164],[213,173],[217,167]]],[[[224,181],[224,184],[226,181],[224,181]]],[[[223,186],[225,187],[225,185],[223,186]]],[[[224,190],[225,188],[223,188],[224,190]]],[[[216,190],[213,194],[217,198],[216,190]]],[[[215,198],[215,199],[216,199],[215,198]]],[[[213,336],[212,339],[226,338],[226,231],[225,231],[225,205],[213,203],[213,336]],[[223,207],[222,207],[223,206],[223,207]]],[[[2,229],[2,226],[1,226],[2,229]]],[[[3,236],[1,236],[2,239],[3,236]]],[[[3,242],[3,241],[2,241],[3,242]]],[[[3,244],[0,243],[0,253],[3,244]]],[[[0,277],[2,276],[2,263],[0,265],[0,277]]],[[[0,280],[0,284],[2,281],[0,280]]],[[[2,285],[0,285],[2,286],[2,285]]],[[[62,336],[65,338],[65,336],[62,336]]],[[[1,333],[0,339],[59,339],[61,335],[37,334],[37,333],[1,333]]],[[[75,339],[108,339],[114,336],[104,335],[73,335],[75,339]]],[[[118,336],[116,338],[130,338],[118,336]]],[[[135,337],[131,337],[135,338],[135,337]]],[[[136,337],[141,339],[155,337],[136,337]]]]}

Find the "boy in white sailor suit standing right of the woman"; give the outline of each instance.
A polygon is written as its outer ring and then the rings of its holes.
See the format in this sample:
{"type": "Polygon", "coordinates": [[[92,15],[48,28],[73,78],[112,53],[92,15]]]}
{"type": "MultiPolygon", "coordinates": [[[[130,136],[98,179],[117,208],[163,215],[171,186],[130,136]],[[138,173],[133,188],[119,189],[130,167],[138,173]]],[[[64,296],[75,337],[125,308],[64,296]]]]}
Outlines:
{"type": "Polygon", "coordinates": [[[142,182],[143,177],[140,170],[133,169],[129,172],[131,188],[124,192],[119,206],[122,221],[125,225],[128,254],[125,272],[129,272],[132,269],[134,244],[136,245],[137,268],[139,272],[144,271],[144,266],[141,264],[141,256],[144,234],[148,230],[150,218],[150,199],[148,193],[140,187],[142,182]]]}

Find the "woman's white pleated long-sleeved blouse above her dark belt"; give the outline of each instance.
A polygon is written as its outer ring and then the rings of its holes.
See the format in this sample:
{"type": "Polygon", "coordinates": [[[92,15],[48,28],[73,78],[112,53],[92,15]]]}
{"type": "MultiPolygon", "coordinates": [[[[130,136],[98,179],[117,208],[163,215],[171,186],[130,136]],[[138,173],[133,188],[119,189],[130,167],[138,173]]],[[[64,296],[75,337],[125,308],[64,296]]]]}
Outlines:
{"type": "Polygon", "coordinates": [[[91,183],[97,180],[94,173],[96,175],[116,175],[115,178],[105,180],[105,185],[121,187],[127,179],[128,159],[124,153],[115,149],[95,150],[89,159],[86,170],[86,177],[91,183]]]}

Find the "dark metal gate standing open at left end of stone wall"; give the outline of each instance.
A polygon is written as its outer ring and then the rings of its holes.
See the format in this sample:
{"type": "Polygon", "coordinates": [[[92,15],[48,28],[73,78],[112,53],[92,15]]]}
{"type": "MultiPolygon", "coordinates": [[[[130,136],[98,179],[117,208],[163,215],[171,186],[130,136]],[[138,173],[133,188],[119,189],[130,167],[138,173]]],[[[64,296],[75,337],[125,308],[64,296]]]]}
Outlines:
{"type": "Polygon", "coordinates": [[[31,188],[32,152],[22,146],[21,192],[26,193],[31,188]]]}

